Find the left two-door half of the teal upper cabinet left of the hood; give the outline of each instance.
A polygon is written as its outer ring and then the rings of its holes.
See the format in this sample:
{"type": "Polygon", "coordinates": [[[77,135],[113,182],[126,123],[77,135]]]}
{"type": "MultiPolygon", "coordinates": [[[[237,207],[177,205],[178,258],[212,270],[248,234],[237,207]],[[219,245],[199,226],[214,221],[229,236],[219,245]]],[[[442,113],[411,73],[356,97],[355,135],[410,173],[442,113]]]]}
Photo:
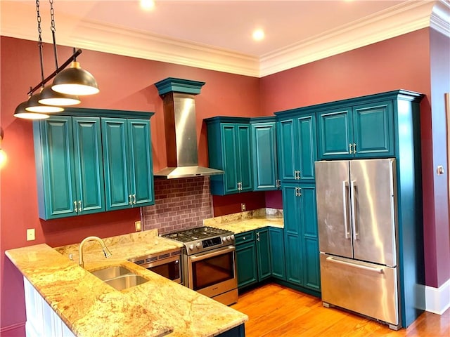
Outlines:
{"type": "Polygon", "coordinates": [[[39,218],[105,211],[100,118],[52,116],[33,132],[39,218]]]}

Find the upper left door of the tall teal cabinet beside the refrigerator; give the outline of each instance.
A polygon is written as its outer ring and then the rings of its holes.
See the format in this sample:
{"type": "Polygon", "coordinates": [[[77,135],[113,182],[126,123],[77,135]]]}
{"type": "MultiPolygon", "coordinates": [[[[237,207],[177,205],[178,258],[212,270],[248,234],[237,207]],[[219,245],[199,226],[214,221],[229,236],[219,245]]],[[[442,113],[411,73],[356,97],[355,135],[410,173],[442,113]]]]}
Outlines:
{"type": "Polygon", "coordinates": [[[277,140],[278,140],[278,167],[280,179],[284,182],[295,181],[295,131],[294,119],[278,121],[277,140]]]}

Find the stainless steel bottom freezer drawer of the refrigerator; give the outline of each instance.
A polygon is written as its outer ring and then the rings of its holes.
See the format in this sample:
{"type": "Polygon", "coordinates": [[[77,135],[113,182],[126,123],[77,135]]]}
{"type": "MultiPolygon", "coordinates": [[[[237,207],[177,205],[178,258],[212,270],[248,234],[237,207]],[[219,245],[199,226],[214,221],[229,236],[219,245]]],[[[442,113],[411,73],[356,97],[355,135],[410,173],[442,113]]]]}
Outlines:
{"type": "Polygon", "coordinates": [[[321,253],[321,285],[323,302],[399,325],[397,267],[321,253]]]}

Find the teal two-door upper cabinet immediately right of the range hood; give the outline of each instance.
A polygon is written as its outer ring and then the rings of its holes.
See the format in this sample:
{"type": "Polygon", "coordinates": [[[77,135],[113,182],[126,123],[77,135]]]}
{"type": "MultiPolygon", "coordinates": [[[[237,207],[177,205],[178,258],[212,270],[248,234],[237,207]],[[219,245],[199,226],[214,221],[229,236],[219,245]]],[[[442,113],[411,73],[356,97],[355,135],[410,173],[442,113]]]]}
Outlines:
{"type": "Polygon", "coordinates": [[[213,117],[205,119],[209,166],[224,171],[211,176],[211,194],[225,195],[253,190],[250,119],[213,117]]]}

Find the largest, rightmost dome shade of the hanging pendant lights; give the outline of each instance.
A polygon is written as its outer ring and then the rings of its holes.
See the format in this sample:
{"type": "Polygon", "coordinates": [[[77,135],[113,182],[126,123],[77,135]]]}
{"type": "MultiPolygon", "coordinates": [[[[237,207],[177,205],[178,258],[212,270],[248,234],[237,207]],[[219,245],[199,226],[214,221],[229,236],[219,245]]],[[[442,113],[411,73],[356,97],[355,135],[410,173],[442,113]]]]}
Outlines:
{"type": "Polygon", "coordinates": [[[73,61],[70,68],[63,70],[53,79],[51,88],[69,95],[94,95],[98,93],[97,81],[92,74],[73,61]]]}

